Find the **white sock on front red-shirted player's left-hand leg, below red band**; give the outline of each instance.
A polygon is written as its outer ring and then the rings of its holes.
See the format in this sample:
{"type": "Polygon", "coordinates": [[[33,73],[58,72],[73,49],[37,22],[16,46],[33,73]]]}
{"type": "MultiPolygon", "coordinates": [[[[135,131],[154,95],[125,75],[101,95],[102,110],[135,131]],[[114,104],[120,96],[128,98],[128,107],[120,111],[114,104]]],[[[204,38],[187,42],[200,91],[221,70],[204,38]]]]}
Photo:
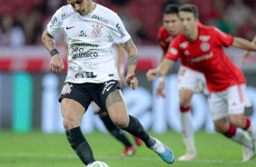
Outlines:
{"type": "Polygon", "coordinates": [[[242,145],[253,149],[252,138],[249,133],[243,131],[241,128],[236,128],[236,133],[231,137],[234,142],[239,142],[242,145]]]}

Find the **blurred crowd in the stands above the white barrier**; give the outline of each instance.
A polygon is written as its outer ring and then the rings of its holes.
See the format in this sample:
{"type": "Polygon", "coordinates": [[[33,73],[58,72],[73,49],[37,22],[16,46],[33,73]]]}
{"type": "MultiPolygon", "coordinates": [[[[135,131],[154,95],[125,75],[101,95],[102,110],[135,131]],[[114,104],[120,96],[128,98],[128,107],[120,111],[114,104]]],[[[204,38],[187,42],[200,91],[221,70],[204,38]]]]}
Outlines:
{"type": "MultiPolygon", "coordinates": [[[[1,0],[0,46],[42,44],[41,35],[66,0],[1,0]],[[3,2],[2,2],[3,1],[3,2]]],[[[135,44],[157,44],[162,10],[168,4],[197,5],[204,25],[251,40],[256,34],[256,0],[94,0],[116,12],[135,44]]],[[[64,44],[64,37],[57,38],[64,44]]]]}

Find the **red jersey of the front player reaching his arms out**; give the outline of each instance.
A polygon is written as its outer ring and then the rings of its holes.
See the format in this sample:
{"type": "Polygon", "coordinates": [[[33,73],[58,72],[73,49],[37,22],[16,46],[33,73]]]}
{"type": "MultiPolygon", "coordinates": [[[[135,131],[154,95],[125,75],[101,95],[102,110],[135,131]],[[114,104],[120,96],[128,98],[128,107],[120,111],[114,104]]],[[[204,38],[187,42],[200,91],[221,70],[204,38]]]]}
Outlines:
{"type": "Polygon", "coordinates": [[[205,75],[210,92],[222,92],[232,85],[246,83],[241,70],[222,49],[232,44],[233,37],[214,26],[202,25],[198,30],[194,41],[189,41],[184,34],[176,36],[165,57],[174,61],[179,57],[189,60],[205,75]]]}

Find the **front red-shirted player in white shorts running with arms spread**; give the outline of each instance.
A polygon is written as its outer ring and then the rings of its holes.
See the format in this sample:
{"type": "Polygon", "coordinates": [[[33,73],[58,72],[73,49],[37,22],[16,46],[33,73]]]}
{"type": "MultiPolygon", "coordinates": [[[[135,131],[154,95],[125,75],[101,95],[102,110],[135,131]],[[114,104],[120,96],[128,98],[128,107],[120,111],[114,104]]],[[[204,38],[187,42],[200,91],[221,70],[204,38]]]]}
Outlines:
{"type": "Polygon", "coordinates": [[[243,161],[251,161],[255,155],[253,143],[255,145],[256,127],[251,124],[249,117],[243,115],[244,108],[250,105],[246,80],[241,70],[228,59],[222,46],[233,45],[243,50],[256,51],[256,45],[225,34],[214,26],[197,26],[198,12],[195,5],[182,5],[179,17],[182,34],[172,41],[162,64],[148,71],[148,79],[166,75],[179,57],[195,65],[206,77],[215,131],[241,143],[247,148],[243,161]]]}

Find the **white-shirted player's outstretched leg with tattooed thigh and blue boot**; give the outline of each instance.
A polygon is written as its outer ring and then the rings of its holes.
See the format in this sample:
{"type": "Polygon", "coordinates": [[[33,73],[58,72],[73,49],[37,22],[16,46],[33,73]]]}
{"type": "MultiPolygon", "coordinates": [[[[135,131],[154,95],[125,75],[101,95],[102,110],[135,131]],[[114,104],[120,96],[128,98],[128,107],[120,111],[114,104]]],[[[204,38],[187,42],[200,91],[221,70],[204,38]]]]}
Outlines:
{"type": "Polygon", "coordinates": [[[145,142],[148,148],[156,152],[164,162],[174,162],[172,150],[165,146],[162,142],[150,136],[143,128],[142,123],[132,115],[129,115],[124,103],[123,93],[119,89],[115,89],[110,93],[105,101],[106,109],[117,126],[124,131],[133,134],[145,142]]]}

